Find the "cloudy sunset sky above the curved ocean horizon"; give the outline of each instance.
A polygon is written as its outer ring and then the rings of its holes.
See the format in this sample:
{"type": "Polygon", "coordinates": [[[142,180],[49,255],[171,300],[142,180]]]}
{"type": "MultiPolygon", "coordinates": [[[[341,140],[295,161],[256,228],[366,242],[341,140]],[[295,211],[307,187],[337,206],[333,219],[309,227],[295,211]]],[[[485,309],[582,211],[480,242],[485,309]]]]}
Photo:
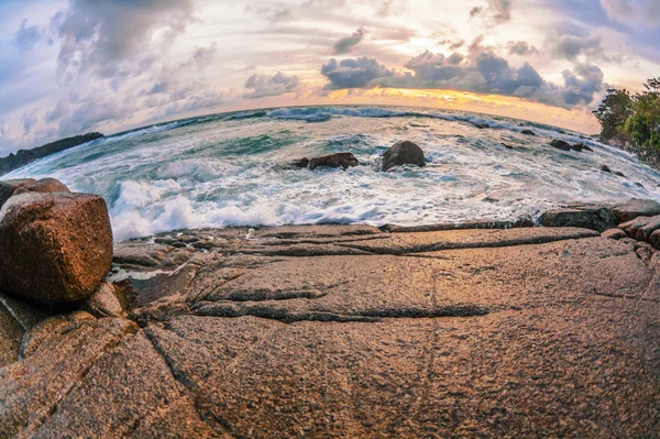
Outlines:
{"type": "Polygon", "coordinates": [[[660,0],[0,0],[0,155],[224,111],[397,105],[595,133],[660,0]]]}

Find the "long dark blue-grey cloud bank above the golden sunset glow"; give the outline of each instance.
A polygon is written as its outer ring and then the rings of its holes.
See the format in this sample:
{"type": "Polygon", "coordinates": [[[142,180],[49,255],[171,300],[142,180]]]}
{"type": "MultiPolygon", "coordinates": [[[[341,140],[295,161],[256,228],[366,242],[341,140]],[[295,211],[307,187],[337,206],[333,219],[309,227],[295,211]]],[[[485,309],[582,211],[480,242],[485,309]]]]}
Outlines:
{"type": "MultiPolygon", "coordinates": [[[[474,46],[474,44],[473,44],[474,46]]],[[[479,45],[477,45],[479,48],[479,45]]],[[[332,59],[321,73],[326,88],[428,88],[514,96],[551,106],[570,108],[590,105],[603,90],[603,72],[594,65],[578,64],[564,70],[562,86],[546,81],[528,63],[513,67],[490,50],[479,48],[470,58],[461,54],[446,57],[425,52],[405,64],[411,73],[395,73],[375,58],[332,59]]]]}

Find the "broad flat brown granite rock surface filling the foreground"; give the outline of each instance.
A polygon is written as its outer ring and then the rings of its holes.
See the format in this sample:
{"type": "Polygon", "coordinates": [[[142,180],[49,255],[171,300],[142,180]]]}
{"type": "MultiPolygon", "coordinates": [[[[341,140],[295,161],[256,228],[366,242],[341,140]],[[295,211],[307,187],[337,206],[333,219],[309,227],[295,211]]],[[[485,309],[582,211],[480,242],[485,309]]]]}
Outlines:
{"type": "Polygon", "coordinates": [[[23,336],[0,369],[0,437],[660,431],[648,244],[342,226],[155,240],[119,244],[129,319],[78,311],[23,336]]]}

